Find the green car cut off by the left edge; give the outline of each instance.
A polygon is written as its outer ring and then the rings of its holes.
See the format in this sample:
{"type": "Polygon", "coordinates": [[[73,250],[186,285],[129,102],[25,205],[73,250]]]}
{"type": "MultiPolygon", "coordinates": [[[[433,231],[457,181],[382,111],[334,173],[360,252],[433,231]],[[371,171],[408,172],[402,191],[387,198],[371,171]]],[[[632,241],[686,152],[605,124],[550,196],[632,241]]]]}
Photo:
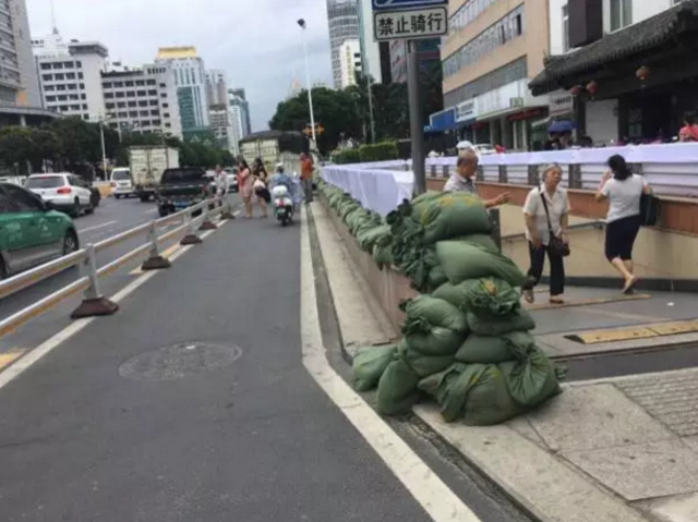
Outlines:
{"type": "Polygon", "coordinates": [[[0,183],[0,278],[80,247],[73,220],[29,191],[0,183]]]}

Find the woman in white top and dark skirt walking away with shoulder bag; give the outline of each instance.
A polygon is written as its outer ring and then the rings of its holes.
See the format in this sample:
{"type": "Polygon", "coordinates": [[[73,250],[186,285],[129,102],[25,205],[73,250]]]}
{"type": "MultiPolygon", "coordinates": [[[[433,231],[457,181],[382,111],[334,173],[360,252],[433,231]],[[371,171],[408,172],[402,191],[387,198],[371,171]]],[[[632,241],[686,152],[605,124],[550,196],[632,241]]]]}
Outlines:
{"type": "Polygon", "coordinates": [[[634,274],[633,246],[641,224],[640,198],[652,191],[645,178],[633,173],[623,156],[611,156],[609,168],[597,192],[598,202],[610,201],[605,254],[625,280],[623,293],[631,293],[639,281],[634,274]]]}

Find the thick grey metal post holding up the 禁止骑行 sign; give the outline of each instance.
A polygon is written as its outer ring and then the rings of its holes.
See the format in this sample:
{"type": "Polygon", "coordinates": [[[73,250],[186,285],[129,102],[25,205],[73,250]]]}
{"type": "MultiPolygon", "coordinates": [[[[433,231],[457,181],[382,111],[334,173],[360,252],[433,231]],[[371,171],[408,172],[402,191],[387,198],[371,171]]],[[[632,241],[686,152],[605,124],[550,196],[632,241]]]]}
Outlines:
{"type": "Polygon", "coordinates": [[[419,54],[417,41],[407,43],[407,89],[410,109],[410,135],[412,138],[412,172],[414,172],[414,194],[426,192],[424,172],[424,128],[422,125],[422,100],[420,97],[419,54]]]}

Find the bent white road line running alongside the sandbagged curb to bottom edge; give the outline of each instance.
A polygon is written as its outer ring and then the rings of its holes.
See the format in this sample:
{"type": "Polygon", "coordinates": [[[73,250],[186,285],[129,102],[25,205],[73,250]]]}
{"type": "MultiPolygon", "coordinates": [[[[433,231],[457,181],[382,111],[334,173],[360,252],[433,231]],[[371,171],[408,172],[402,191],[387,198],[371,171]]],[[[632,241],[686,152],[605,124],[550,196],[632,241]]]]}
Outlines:
{"type": "Polygon", "coordinates": [[[327,361],[320,330],[305,209],[301,210],[301,340],[303,365],[373,450],[435,522],[480,522],[327,361]]]}

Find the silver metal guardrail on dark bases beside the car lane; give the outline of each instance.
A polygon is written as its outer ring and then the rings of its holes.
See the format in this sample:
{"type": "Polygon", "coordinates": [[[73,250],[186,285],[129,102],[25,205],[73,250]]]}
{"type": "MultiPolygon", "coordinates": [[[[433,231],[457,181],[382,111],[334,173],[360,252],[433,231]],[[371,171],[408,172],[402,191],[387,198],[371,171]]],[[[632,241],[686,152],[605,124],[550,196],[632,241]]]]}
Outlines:
{"type": "Polygon", "coordinates": [[[205,202],[185,208],[177,214],[140,224],[139,227],[134,227],[133,229],[127,230],[125,232],[112,238],[108,238],[99,243],[87,244],[85,247],[73,252],[72,254],[8,278],[4,281],[0,281],[1,300],[33,287],[34,284],[37,284],[38,282],[69,268],[80,266],[82,270],[81,277],[76,281],[73,281],[67,287],[47,295],[26,308],[0,320],[0,337],[15,330],[34,317],[45,313],[49,308],[79,292],[84,293],[83,302],[71,314],[71,318],[77,319],[115,314],[119,309],[119,305],[109,301],[101,293],[99,288],[100,278],[108,276],[128,263],[145,257],[146,255],[147,258],[142,265],[143,270],[169,268],[170,262],[163,257],[160,253],[160,245],[181,235],[182,233],[184,233],[184,236],[180,241],[181,245],[202,243],[203,240],[197,233],[198,230],[216,229],[217,226],[212,221],[212,219],[217,214],[220,214],[221,219],[233,218],[230,203],[227,199],[225,203],[220,198],[206,199],[205,202]],[[194,218],[193,214],[200,210],[202,211],[201,216],[194,218]],[[182,224],[163,235],[158,235],[158,229],[177,221],[181,221],[182,224]],[[147,234],[147,242],[145,244],[132,250],[117,259],[113,259],[103,267],[97,266],[98,252],[103,252],[111,246],[142,234],[147,234]]]}

